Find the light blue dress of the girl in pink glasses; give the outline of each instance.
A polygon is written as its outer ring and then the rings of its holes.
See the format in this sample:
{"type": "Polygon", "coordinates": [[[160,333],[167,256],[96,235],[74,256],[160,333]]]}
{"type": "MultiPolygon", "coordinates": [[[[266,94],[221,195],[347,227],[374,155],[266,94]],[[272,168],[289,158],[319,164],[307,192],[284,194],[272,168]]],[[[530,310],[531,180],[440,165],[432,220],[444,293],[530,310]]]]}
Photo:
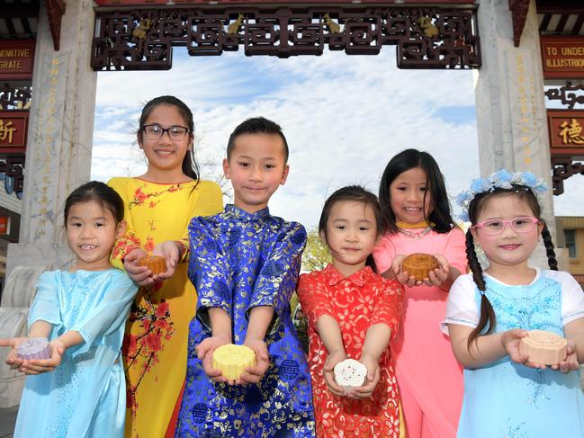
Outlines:
{"type": "MultiPolygon", "coordinates": [[[[562,283],[539,271],[527,286],[509,286],[485,276],[487,298],[497,317],[496,332],[511,328],[562,328],[562,283]]],[[[476,289],[477,307],[481,293],[476,289]]],[[[535,370],[509,357],[464,370],[460,438],[550,438],[584,436],[580,372],[535,370]]]]}

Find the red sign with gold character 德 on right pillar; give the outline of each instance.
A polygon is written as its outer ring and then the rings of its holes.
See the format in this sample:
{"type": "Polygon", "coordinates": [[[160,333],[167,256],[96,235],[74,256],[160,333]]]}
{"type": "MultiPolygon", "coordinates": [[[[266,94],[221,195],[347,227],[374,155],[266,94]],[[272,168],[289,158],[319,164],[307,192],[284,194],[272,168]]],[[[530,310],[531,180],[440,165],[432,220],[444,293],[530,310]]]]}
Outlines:
{"type": "Polygon", "coordinates": [[[552,155],[584,156],[584,110],[548,110],[547,129],[552,155]]]}

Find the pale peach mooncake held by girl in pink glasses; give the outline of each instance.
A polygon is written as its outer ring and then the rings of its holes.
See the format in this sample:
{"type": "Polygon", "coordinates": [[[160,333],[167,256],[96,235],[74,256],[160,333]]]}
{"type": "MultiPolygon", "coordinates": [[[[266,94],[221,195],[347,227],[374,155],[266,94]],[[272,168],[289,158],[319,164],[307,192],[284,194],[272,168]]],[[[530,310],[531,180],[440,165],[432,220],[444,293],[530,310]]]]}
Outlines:
{"type": "Polygon", "coordinates": [[[562,336],[544,330],[531,330],[519,342],[519,352],[529,356],[529,362],[554,365],[566,359],[566,341],[562,336]]]}

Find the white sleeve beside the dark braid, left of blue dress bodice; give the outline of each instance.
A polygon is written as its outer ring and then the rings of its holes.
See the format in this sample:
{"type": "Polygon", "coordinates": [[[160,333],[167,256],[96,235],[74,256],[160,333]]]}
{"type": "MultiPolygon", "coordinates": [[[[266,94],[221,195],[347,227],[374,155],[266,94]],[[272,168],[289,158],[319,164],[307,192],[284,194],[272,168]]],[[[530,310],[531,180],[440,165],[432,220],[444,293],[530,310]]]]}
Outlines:
{"type": "Polygon", "coordinates": [[[446,303],[446,318],[440,329],[448,335],[448,324],[460,324],[472,328],[479,325],[480,313],[476,301],[476,284],[472,273],[461,275],[450,287],[446,303]]]}

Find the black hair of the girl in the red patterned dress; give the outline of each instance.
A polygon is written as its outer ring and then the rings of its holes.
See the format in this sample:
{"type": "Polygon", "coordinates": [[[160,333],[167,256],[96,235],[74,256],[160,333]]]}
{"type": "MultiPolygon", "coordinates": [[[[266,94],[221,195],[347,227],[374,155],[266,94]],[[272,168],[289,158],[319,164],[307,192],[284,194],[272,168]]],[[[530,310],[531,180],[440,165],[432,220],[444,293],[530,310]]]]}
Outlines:
{"type": "MultiPolygon", "coordinates": [[[[325,201],[325,205],[322,208],[322,213],[320,213],[319,219],[319,233],[324,234],[325,239],[327,238],[327,222],[328,217],[330,216],[330,210],[333,209],[333,205],[335,205],[335,203],[342,201],[363,202],[364,205],[370,205],[373,208],[373,215],[375,216],[377,236],[379,237],[383,234],[383,230],[385,230],[387,227],[387,223],[385,215],[382,211],[382,207],[379,204],[379,201],[377,201],[377,196],[375,196],[372,192],[365,190],[360,185],[347,185],[346,187],[338,189],[336,192],[331,194],[328,197],[328,200],[325,201]]],[[[370,266],[371,269],[377,273],[377,265],[375,264],[373,255],[370,254],[367,256],[365,265],[370,266]]]]}

